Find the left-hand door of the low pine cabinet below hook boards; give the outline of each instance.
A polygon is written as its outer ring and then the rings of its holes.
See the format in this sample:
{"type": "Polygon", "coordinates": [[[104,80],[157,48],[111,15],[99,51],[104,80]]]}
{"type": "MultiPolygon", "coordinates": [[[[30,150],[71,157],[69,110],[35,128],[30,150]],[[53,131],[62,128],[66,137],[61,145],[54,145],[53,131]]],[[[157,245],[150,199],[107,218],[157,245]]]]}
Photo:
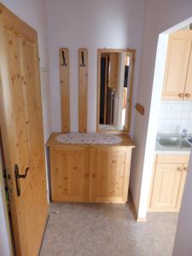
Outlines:
{"type": "Polygon", "coordinates": [[[89,201],[89,148],[50,148],[52,201],[89,201]]]}

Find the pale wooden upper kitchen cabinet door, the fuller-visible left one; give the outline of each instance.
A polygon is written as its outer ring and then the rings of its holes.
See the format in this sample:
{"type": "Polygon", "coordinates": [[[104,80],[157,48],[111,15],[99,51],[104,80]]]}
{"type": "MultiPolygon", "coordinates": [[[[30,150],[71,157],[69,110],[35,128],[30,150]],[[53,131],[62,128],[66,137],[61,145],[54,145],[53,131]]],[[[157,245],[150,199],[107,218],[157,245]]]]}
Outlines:
{"type": "Polygon", "coordinates": [[[184,98],[191,49],[191,33],[189,30],[183,30],[172,33],[169,38],[162,96],[164,100],[183,100],[184,98]]]}

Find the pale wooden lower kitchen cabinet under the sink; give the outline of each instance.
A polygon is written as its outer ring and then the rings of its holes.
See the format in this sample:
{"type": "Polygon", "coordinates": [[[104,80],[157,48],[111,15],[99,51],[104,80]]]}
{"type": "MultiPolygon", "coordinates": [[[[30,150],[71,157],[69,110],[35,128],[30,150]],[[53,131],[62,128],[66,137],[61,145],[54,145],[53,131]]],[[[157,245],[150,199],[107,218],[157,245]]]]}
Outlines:
{"type": "Polygon", "coordinates": [[[189,154],[157,154],[148,211],[179,212],[189,154]]]}

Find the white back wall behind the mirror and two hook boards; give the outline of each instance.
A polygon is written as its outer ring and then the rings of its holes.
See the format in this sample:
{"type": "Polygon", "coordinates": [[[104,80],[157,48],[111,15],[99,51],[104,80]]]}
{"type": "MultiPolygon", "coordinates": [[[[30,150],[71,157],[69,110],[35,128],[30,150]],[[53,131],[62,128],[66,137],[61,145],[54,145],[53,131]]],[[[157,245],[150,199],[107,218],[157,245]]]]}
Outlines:
{"type": "MultiPolygon", "coordinates": [[[[70,50],[71,127],[78,131],[78,49],[89,49],[88,130],[96,131],[98,48],[136,48],[136,97],[145,0],[47,0],[52,131],[61,131],[59,55],[70,50]]],[[[135,100],[134,100],[135,102],[135,100]]],[[[134,113],[133,113],[134,116],[134,113]]],[[[134,123],[134,121],[132,122],[134,123]]]]}

